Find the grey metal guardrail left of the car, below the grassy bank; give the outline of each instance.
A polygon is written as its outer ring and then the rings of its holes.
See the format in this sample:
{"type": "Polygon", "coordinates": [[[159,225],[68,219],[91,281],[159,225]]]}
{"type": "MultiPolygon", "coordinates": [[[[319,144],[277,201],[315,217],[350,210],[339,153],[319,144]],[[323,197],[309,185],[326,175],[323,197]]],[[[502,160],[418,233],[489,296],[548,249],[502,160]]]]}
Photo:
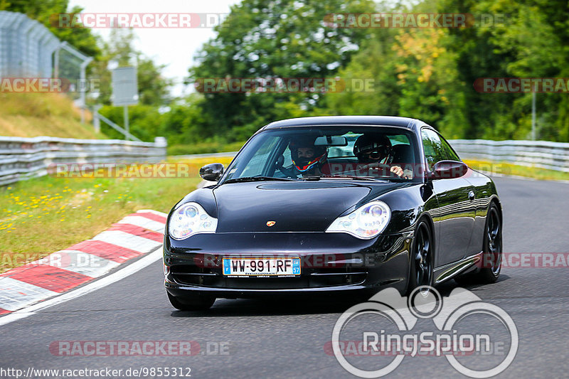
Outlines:
{"type": "Polygon", "coordinates": [[[166,159],[166,139],[0,137],[0,186],[48,174],[52,164],[156,163],[166,159]]]}

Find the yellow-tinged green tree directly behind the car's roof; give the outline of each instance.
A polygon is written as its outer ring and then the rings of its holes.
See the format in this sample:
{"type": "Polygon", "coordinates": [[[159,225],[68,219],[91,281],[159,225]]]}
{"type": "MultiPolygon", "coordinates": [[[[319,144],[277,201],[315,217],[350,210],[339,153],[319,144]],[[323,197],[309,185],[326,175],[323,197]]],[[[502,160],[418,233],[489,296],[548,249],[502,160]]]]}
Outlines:
{"type": "MultiPolygon", "coordinates": [[[[381,11],[432,12],[427,5],[408,9],[405,5],[384,3],[381,11]]],[[[372,80],[373,87],[366,91],[327,94],[326,110],[331,114],[417,117],[431,122],[447,135],[459,137],[464,115],[457,105],[464,100],[457,88],[460,84],[456,55],[446,46],[447,38],[448,32],[442,28],[376,29],[371,40],[365,41],[349,65],[339,72],[341,78],[349,82],[372,80]]]]}

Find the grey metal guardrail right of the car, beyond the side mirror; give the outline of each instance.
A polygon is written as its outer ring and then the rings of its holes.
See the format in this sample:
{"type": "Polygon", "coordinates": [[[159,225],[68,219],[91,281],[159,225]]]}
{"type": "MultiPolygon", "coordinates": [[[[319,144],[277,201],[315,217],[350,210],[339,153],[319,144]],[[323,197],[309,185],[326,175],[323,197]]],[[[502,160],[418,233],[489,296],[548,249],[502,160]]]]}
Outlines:
{"type": "Polygon", "coordinates": [[[569,172],[569,144],[548,141],[450,139],[462,159],[502,161],[569,172]]]}

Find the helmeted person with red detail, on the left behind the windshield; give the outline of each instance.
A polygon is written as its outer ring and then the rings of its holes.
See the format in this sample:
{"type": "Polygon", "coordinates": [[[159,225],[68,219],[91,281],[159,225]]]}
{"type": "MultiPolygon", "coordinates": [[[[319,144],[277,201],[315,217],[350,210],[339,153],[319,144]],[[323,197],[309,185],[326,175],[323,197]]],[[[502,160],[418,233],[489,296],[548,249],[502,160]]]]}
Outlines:
{"type": "Polygon", "coordinates": [[[321,176],[321,168],[328,159],[326,146],[315,146],[314,139],[293,139],[289,144],[292,164],[302,176],[321,176]]]}

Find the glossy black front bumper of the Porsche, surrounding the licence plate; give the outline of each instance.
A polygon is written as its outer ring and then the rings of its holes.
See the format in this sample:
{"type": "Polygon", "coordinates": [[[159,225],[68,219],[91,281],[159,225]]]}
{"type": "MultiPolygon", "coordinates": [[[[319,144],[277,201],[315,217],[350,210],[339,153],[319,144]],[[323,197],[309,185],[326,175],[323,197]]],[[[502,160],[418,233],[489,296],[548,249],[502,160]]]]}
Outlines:
{"type": "Polygon", "coordinates": [[[402,233],[360,240],[345,233],[213,233],[177,241],[164,236],[164,284],[176,296],[404,292],[412,238],[402,233]],[[226,277],[223,257],[300,257],[297,277],[226,277]]]}

